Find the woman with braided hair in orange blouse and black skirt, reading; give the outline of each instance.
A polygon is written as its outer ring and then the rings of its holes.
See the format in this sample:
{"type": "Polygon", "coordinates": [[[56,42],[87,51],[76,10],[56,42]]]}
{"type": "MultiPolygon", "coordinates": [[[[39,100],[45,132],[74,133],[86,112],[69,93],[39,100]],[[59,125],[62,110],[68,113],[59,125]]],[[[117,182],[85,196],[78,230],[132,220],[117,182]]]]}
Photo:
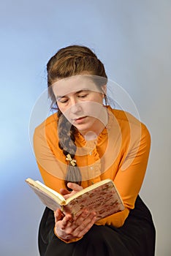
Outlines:
{"type": "Polygon", "coordinates": [[[57,111],[34,132],[45,184],[67,198],[111,178],[125,209],[96,222],[94,212],[85,210],[73,221],[60,209],[46,208],[40,255],[154,255],[153,220],[138,195],[150,151],[148,129],[129,113],[110,108],[104,65],[86,47],[58,50],[47,63],[47,83],[57,111]]]}

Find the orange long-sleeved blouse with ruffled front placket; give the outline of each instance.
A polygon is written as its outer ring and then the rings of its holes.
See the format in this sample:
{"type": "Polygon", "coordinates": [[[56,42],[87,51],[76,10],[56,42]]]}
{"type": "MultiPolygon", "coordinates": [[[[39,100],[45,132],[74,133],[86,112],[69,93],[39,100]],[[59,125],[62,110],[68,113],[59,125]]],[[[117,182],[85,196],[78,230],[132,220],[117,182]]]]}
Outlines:
{"type": "MultiPolygon", "coordinates": [[[[107,109],[107,127],[96,140],[86,142],[79,132],[75,135],[75,159],[82,173],[83,188],[105,178],[114,181],[125,210],[99,220],[96,225],[121,227],[140,192],[151,138],[145,125],[131,114],[107,109]]],[[[67,162],[58,147],[57,121],[55,113],[35,129],[34,152],[45,184],[59,192],[64,188],[67,162]]]]}

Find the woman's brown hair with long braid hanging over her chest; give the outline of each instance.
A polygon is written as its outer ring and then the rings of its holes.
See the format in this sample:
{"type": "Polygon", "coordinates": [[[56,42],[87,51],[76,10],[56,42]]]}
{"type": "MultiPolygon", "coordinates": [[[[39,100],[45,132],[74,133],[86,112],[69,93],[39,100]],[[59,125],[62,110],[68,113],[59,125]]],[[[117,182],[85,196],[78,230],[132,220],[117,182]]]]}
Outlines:
{"type": "MultiPolygon", "coordinates": [[[[69,78],[72,75],[80,75],[83,72],[105,78],[107,75],[102,62],[96,57],[95,53],[85,46],[71,45],[61,48],[47,63],[47,85],[49,96],[52,100],[51,107],[58,109],[56,97],[53,94],[52,84],[58,79],[69,78]]],[[[104,83],[103,83],[104,84],[104,83]]],[[[101,85],[102,86],[102,85],[101,85]]],[[[70,154],[75,157],[75,132],[77,129],[67,121],[65,116],[58,110],[58,138],[59,147],[63,150],[64,155],[70,154]]],[[[65,184],[75,182],[81,184],[81,174],[77,165],[68,165],[65,184]]]]}

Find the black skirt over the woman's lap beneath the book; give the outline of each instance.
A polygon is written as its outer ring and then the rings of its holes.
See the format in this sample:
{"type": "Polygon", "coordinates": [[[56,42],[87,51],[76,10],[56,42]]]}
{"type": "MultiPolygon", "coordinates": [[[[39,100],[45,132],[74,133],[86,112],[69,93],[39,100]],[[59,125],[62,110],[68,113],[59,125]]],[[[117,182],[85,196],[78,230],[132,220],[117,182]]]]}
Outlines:
{"type": "Polygon", "coordinates": [[[53,232],[53,211],[45,208],[39,225],[40,256],[154,256],[156,232],[140,196],[122,227],[94,225],[79,241],[66,244],[53,232]]]}

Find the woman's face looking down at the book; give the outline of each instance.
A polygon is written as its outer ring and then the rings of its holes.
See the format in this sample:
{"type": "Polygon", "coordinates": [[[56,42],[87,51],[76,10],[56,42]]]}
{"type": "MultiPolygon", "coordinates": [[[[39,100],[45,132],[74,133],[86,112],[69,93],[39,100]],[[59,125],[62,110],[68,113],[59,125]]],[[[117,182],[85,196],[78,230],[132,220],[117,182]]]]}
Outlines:
{"type": "MultiPolygon", "coordinates": [[[[102,86],[105,90],[105,86],[102,86]]],[[[83,135],[95,132],[106,125],[104,94],[88,75],[76,75],[53,83],[53,93],[61,113],[83,135]],[[105,124],[104,124],[105,123],[105,124]]]]}

